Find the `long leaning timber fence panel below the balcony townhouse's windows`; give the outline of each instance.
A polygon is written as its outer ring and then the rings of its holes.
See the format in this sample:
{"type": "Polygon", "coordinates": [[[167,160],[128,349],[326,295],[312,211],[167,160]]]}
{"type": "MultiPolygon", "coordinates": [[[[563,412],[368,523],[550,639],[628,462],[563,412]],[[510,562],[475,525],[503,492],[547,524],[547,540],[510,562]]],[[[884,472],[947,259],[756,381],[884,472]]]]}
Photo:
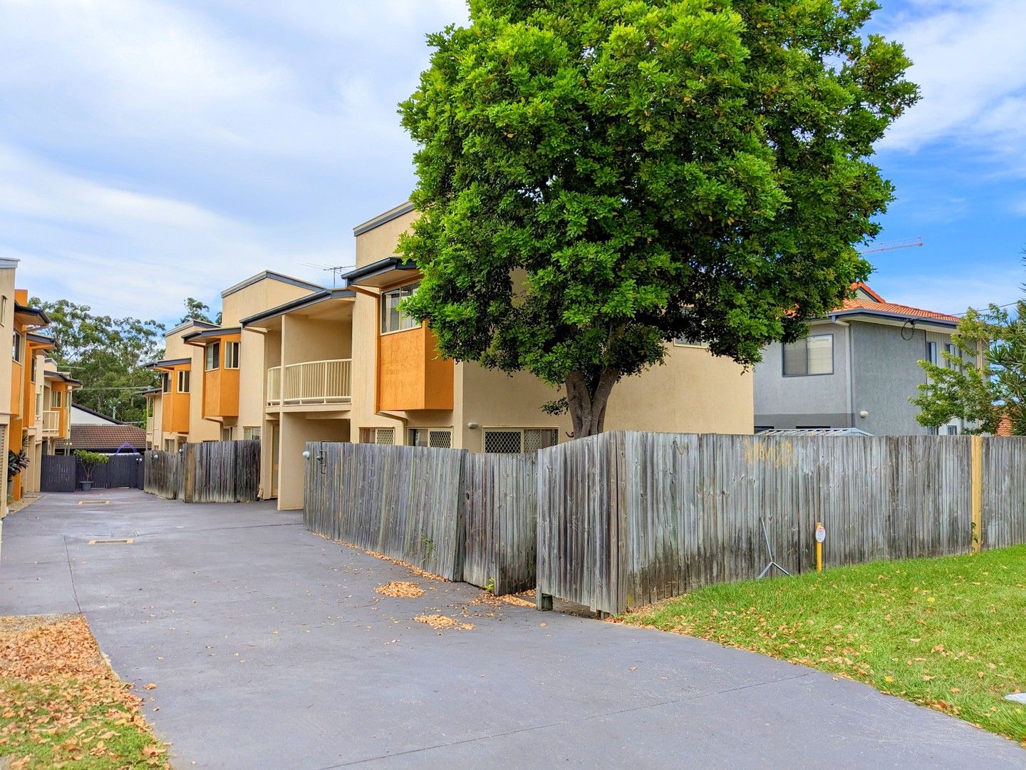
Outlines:
{"type": "Polygon", "coordinates": [[[307,445],[304,521],[313,532],[463,579],[463,450],[307,445]]]}

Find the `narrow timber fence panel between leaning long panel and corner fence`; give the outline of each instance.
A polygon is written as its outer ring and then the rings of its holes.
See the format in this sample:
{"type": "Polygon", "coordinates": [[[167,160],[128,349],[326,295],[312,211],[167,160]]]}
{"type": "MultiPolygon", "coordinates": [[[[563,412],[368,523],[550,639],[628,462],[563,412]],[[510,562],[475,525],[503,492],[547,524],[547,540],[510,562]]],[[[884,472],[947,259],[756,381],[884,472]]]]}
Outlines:
{"type": "Polygon", "coordinates": [[[464,454],[466,582],[490,587],[497,595],[535,587],[537,476],[536,455],[464,454]]]}

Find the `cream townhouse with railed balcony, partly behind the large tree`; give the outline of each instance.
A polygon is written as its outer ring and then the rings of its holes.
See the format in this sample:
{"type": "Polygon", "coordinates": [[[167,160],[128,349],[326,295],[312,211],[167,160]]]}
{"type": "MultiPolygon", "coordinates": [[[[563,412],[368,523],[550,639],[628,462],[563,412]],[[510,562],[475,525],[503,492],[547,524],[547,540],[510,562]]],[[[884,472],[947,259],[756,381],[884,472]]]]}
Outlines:
{"type": "MultiPolygon", "coordinates": [[[[401,313],[421,274],[396,256],[397,241],[416,217],[405,203],[354,229],[345,288],[242,319],[267,346],[262,486],[279,508],[303,504],[310,440],[518,453],[570,437],[567,416],[541,409],[557,390],[527,373],[443,359],[430,328],[401,313]]],[[[665,365],[623,380],[607,415],[610,430],[750,433],[752,378],[682,341],[665,365]]]]}

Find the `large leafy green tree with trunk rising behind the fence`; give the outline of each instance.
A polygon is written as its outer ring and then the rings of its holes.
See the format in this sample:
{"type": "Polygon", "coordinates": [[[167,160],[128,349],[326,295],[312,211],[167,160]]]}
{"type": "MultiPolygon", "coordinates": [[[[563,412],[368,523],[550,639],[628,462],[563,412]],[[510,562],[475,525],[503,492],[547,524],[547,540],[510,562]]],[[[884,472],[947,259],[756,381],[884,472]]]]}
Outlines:
{"type": "MultiPolygon", "coordinates": [[[[400,106],[405,309],[443,355],[565,388],[577,436],[676,337],[750,364],[837,307],[917,98],[870,0],[471,0],[400,106]]],[[[687,383],[682,382],[686,392],[687,383]]]]}

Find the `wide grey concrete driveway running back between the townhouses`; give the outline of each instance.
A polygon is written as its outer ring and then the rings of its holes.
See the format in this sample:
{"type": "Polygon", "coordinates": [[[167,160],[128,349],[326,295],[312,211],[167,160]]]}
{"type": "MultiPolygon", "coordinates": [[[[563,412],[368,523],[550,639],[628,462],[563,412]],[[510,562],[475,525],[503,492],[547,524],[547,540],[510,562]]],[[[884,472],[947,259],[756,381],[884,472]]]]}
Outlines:
{"type": "Polygon", "coordinates": [[[265,503],[47,495],[3,528],[0,613],[81,609],[177,767],[1026,767],[860,684],[481,598],[265,503]],[[410,579],[423,596],[373,590],[410,579]]]}

